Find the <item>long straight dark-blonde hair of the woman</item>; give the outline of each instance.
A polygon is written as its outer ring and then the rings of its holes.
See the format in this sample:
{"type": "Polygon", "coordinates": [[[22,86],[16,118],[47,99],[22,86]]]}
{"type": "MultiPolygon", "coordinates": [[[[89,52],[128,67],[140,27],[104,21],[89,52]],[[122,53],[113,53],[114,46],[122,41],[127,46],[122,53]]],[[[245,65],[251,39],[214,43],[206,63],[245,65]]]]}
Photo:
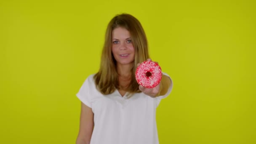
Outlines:
{"type": "Polygon", "coordinates": [[[128,97],[130,97],[134,93],[141,92],[139,90],[139,84],[135,78],[136,64],[149,59],[146,34],[139,20],[132,15],[123,13],[115,16],[109,22],[105,34],[104,47],[101,54],[100,69],[93,78],[95,80],[97,89],[104,95],[111,94],[116,88],[120,88],[116,69],[116,60],[112,55],[112,31],[117,27],[123,27],[130,32],[135,52],[133,68],[131,69],[131,83],[126,89],[126,91],[129,93],[128,97]]]}

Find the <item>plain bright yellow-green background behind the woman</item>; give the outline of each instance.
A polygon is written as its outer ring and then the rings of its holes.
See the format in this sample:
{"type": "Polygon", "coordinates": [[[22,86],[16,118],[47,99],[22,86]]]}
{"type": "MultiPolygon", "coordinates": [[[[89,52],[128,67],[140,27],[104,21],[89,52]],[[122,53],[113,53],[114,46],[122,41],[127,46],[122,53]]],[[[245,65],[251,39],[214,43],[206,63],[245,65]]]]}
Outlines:
{"type": "Polygon", "coordinates": [[[1,0],[0,144],[75,143],[75,94],[119,13],[141,21],[173,79],[157,108],[160,144],[256,143],[254,0],[1,0]]]}

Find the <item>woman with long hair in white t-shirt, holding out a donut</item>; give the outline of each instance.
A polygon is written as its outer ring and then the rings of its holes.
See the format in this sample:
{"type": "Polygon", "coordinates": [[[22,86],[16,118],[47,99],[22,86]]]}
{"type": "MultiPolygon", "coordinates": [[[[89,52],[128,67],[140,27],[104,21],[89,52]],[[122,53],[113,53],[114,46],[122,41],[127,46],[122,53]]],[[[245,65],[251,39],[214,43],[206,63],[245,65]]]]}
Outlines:
{"type": "Polygon", "coordinates": [[[140,22],[129,14],[115,16],[107,27],[99,72],[77,93],[77,144],[158,144],[156,107],[171,93],[172,80],[162,72],[155,88],[139,85],[135,71],[145,60],[150,59],[140,22]]]}

